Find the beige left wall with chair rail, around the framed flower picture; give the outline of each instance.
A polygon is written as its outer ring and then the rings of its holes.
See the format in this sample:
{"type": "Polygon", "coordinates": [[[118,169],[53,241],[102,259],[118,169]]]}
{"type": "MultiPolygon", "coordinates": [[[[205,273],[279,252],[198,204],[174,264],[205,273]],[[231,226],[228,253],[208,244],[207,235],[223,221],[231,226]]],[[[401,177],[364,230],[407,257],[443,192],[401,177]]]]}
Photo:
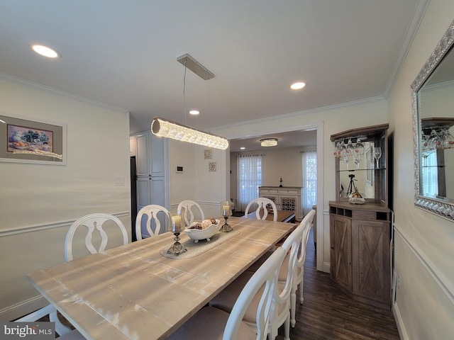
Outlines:
{"type": "Polygon", "coordinates": [[[65,261],[74,220],[114,214],[131,239],[129,123],[125,111],[3,76],[0,103],[2,115],[67,125],[66,166],[0,162],[0,319],[9,321],[40,296],[26,274],[65,261]],[[116,177],[125,185],[115,186],[116,177]]]}

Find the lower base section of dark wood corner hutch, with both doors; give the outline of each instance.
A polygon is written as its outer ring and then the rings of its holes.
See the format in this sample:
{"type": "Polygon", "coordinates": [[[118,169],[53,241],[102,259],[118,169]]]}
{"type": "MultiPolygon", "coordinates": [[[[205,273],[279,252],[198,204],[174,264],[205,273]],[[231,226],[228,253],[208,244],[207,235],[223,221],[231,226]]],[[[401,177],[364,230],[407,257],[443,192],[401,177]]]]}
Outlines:
{"type": "Polygon", "coordinates": [[[330,276],[354,300],[389,309],[389,209],[330,203],[330,276]]]}

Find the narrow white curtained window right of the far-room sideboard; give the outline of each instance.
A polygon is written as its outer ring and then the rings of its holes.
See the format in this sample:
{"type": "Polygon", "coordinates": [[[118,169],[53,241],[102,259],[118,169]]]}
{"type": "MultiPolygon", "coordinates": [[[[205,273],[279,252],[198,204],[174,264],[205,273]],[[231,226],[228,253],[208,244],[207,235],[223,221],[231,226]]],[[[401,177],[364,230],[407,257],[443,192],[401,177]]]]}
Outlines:
{"type": "Polygon", "coordinates": [[[317,204],[317,150],[306,149],[302,154],[303,212],[306,215],[317,204]]]}

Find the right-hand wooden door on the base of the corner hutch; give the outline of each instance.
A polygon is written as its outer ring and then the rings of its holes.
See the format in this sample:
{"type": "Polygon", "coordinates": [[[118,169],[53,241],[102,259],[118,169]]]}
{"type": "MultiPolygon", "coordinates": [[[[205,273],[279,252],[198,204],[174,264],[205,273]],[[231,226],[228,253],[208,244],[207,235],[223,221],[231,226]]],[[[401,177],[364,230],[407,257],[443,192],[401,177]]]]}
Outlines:
{"type": "Polygon", "coordinates": [[[353,220],[353,293],[389,304],[389,223],[353,220]]]}

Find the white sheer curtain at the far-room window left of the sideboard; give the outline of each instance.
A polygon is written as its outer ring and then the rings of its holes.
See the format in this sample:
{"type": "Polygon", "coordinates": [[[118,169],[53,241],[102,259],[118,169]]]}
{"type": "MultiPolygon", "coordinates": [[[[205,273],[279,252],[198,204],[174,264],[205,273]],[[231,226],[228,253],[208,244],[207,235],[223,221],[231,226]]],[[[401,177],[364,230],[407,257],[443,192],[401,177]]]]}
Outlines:
{"type": "Polygon", "coordinates": [[[237,156],[236,210],[244,211],[246,205],[258,198],[258,187],[262,185],[262,154],[237,156]]]}

